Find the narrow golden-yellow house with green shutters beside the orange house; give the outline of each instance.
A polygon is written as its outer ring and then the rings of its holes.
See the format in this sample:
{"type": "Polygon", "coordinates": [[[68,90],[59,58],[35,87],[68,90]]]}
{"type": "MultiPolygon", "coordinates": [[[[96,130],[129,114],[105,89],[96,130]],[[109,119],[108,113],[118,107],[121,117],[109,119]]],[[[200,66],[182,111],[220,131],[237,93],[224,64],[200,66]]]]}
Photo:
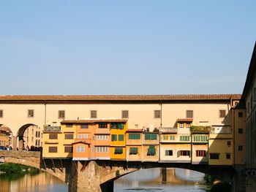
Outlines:
{"type": "Polygon", "coordinates": [[[110,159],[126,160],[126,137],[127,120],[118,120],[110,123],[110,159]]]}

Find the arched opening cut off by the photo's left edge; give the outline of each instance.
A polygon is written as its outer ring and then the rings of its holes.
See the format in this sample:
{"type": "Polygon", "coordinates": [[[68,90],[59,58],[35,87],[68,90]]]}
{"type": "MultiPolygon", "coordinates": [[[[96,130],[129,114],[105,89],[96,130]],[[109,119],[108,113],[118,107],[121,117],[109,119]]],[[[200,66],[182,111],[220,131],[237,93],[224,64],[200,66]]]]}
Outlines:
{"type": "Polygon", "coordinates": [[[12,131],[8,126],[0,124],[0,146],[7,147],[12,150],[12,131]]]}

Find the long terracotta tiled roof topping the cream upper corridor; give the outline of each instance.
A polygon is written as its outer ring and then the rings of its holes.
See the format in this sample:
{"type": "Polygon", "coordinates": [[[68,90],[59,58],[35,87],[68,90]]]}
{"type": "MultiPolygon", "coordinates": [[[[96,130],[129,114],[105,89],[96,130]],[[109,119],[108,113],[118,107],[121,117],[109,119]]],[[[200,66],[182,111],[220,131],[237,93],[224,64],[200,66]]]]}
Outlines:
{"type": "Polygon", "coordinates": [[[0,96],[0,101],[175,101],[240,99],[241,94],[0,96]]]}

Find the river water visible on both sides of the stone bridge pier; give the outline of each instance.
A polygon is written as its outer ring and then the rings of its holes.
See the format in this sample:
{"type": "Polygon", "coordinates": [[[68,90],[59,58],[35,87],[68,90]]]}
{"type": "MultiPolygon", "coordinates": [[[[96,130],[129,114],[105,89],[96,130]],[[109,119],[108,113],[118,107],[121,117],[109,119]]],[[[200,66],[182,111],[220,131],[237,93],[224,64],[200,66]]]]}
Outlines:
{"type": "MultiPolygon", "coordinates": [[[[162,169],[141,169],[138,172],[127,174],[114,183],[115,192],[137,191],[177,191],[194,192],[206,191],[199,183],[203,174],[187,169],[167,169],[166,180],[162,182],[162,169]]],[[[39,174],[24,174],[6,176],[0,175],[1,192],[66,192],[67,184],[52,175],[40,172],[39,174]]]]}

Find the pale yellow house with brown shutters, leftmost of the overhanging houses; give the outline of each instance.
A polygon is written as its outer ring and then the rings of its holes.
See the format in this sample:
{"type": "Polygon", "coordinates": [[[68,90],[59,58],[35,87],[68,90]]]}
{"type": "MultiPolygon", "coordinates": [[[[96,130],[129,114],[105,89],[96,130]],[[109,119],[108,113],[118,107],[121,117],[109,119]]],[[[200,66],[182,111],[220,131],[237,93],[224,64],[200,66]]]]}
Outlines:
{"type": "Polygon", "coordinates": [[[72,142],[76,125],[61,123],[61,126],[45,126],[43,131],[43,158],[72,158],[72,142]]]}

